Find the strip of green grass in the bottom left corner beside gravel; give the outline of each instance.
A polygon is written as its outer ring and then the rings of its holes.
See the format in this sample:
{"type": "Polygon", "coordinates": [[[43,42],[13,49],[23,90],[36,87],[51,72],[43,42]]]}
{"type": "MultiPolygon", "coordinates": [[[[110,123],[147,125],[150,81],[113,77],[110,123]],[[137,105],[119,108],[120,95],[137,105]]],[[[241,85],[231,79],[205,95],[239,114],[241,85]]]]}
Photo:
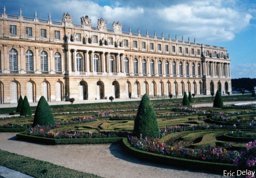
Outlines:
{"type": "Polygon", "coordinates": [[[100,178],[94,174],[83,173],[3,150],[0,150],[0,165],[37,178],[100,178]]]}

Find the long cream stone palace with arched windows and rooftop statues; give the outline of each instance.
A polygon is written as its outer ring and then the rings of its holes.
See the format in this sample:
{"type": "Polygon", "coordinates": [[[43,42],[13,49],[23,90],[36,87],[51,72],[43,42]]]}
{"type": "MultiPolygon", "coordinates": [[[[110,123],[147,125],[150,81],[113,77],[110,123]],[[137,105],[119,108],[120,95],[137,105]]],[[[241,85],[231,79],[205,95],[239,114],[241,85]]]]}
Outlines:
{"type": "Polygon", "coordinates": [[[225,47],[122,31],[122,24],[88,16],[81,25],[70,14],[62,21],[0,14],[0,101],[29,102],[169,98],[191,92],[231,92],[225,47]]]}

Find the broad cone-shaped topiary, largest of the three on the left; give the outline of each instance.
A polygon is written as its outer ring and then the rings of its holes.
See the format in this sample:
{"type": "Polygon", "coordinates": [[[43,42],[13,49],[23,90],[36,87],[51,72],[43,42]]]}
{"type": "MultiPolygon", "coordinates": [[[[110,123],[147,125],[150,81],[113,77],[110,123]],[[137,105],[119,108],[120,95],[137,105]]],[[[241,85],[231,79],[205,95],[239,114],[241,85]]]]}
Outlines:
{"type": "Polygon", "coordinates": [[[53,114],[43,96],[38,102],[37,109],[35,109],[33,126],[35,125],[54,125],[53,114]]]}

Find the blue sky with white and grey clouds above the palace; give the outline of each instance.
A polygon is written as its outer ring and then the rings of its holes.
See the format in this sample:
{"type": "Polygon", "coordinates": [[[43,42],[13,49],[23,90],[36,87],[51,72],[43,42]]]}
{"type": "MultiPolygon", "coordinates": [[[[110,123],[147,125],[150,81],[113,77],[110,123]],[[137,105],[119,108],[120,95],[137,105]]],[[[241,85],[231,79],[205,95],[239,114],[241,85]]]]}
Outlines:
{"type": "MultiPolygon", "coordinates": [[[[1,0],[6,14],[61,21],[62,14],[73,16],[74,24],[88,15],[93,26],[103,18],[108,29],[113,21],[123,24],[123,31],[227,47],[231,59],[231,77],[256,78],[256,1],[255,0],[1,0]]],[[[2,13],[2,12],[1,12],[2,13]]]]}

